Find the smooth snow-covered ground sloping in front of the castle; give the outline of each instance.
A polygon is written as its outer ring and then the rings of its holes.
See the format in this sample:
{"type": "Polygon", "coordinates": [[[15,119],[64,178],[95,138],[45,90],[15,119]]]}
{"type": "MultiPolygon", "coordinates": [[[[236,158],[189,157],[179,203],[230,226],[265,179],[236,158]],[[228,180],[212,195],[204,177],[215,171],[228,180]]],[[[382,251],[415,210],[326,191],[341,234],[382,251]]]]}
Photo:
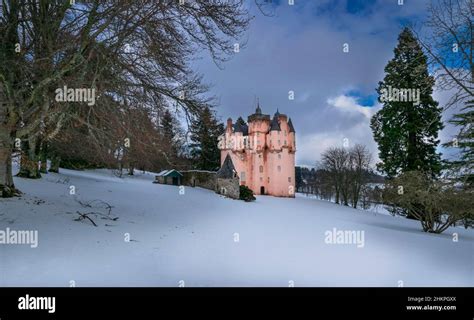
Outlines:
{"type": "Polygon", "coordinates": [[[474,286],[473,230],[426,234],[416,221],[304,196],[245,203],[152,181],[64,169],[16,178],[24,194],[0,199],[0,231],[37,230],[39,242],[0,244],[0,286],[474,286]],[[77,201],[95,199],[118,220],[74,221],[107,212],[77,201]],[[333,231],[364,241],[327,243],[333,231]]]}

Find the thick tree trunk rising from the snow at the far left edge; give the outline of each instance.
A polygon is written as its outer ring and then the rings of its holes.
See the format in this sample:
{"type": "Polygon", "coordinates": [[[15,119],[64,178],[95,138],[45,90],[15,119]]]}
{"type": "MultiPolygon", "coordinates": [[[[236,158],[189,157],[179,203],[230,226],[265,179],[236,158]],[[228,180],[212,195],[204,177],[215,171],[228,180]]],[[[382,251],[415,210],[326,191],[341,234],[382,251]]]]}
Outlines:
{"type": "Polygon", "coordinates": [[[18,195],[13,184],[12,174],[13,139],[5,126],[0,124],[0,197],[9,198],[18,195]]]}

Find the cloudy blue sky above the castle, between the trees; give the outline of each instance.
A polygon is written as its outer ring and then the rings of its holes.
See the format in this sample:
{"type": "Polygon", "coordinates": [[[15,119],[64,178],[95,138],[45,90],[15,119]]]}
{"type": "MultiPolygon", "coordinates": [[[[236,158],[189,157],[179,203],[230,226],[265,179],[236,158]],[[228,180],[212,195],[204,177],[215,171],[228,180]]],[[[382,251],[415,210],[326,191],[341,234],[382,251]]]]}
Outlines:
{"type": "MultiPolygon", "coordinates": [[[[369,126],[381,108],[375,88],[400,31],[408,24],[422,25],[427,1],[294,0],[290,5],[273,0],[271,17],[247,1],[255,18],[239,42],[244,48],[222,70],[205,54],[194,66],[218,98],[221,121],[246,120],[258,98],[263,113],[278,109],[291,117],[297,165],[315,166],[325,149],[342,146],[345,139],[349,145],[366,145],[375,164],[378,151],[369,126]]],[[[448,96],[435,90],[440,105],[448,96]]],[[[447,127],[441,140],[454,132],[447,127]]]]}

